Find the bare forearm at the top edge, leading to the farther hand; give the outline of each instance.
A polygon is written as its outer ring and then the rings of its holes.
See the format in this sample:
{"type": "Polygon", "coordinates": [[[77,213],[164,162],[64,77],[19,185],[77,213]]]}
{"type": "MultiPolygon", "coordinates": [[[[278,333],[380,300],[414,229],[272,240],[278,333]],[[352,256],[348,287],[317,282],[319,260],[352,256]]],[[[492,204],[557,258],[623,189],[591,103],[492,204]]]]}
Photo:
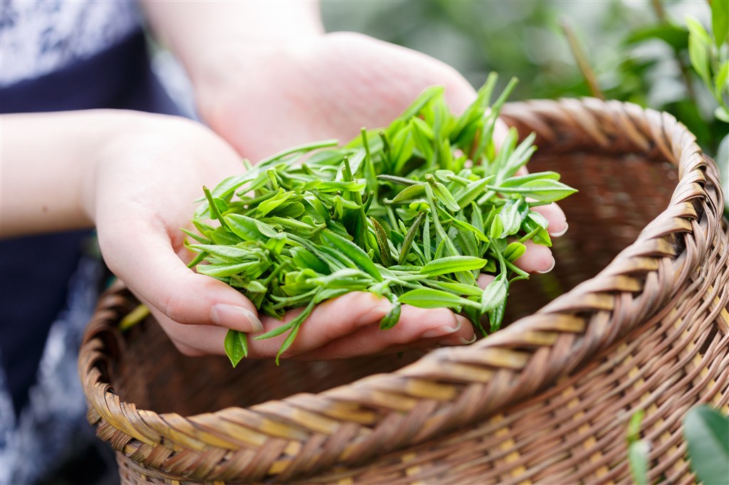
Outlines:
{"type": "Polygon", "coordinates": [[[266,45],[324,33],[318,1],[141,1],[149,24],[196,86],[266,45]]]}

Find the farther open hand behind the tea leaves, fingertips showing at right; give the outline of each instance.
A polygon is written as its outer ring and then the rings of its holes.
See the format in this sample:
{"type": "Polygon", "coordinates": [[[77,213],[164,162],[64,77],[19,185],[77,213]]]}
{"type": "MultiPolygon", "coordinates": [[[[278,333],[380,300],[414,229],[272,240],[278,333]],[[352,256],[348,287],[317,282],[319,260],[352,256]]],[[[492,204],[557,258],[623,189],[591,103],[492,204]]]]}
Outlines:
{"type": "MultiPolygon", "coordinates": [[[[475,99],[473,87],[450,66],[357,33],[265,44],[229,42],[216,55],[225,68],[194,76],[204,79],[197,83],[200,113],[253,161],[300,143],[348,141],[362,126],[385,126],[434,84],[445,86],[456,113],[475,99]]],[[[208,67],[213,61],[208,60],[208,67]]],[[[494,134],[497,143],[505,133],[501,123],[494,134]]],[[[549,221],[550,234],[564,234],[566,218],[558,205],[535,210],[549,221]]],[[[549,248],[526,245],[516,261],[521,269],[547,272],[554,267],[549,248]]]]}

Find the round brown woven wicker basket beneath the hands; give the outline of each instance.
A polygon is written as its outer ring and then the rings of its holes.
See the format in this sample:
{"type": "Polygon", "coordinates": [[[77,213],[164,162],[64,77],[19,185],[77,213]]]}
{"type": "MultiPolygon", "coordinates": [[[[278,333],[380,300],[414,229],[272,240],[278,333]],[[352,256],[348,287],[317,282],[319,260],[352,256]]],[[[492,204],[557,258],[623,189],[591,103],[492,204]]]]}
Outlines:
{"type": "Polygon", "coordinates": [[[681,422],[729,403],[729,232],[717,167],[667,114],[512,103],[531,170],[580,189],[557,266],[515,285],[513,322],[467,347],[332,362],[179,355],[154,320],[99,302],[79,369],[124,484],[631,481],[643,409],[650,480],[695,481],[681,422]],[[518,321],[515,321],[518,320],[518,321]]]}

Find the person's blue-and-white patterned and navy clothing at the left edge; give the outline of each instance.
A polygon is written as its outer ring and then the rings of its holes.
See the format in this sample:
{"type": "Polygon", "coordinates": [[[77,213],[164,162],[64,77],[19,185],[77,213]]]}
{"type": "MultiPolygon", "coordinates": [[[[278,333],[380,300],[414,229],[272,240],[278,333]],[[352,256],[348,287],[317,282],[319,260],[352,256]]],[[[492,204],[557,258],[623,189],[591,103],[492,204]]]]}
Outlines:
{"type": "MultiPolygon", "coordinates": [[[[152,73],[133,1],[0,0],[0,52],[1,113],[179,112],[152,73]]],[[[106,274],[94,250],[87,231],[0,241],[0,484],[54,483],[84,457],[98,473],[71,483],[114,479],[77,374],[106,274]]]]}

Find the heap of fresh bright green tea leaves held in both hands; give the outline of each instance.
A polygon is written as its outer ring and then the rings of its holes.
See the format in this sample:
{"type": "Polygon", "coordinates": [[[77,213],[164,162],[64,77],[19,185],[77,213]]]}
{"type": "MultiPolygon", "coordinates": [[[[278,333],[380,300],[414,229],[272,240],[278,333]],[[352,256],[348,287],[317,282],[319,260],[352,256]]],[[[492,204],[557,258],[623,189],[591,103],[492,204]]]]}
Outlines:
{"type": "MultiPolygon", "coordinates": [[[[260,312],[294,320],[257,339],[288,332],[281,355],[321,301],[370,291],[393,307],[447,307],[486,335],[502,323],[509,285],[528,277],[514,265],[523,242],[551,245],[547,221],[531,210],[576,192],[558,173],[517,175],[534,152],[534,135],[517,143],[510,130],[496,152],[492,135],[512,80],[489,106],[489,76],[461,116],[432,87],[382,130],[362,129],[345,146],[298,146],[222,181],[205,198],[188,244],[203,275],[239,288],[260,312]],[[214,219],[219,226],[205,221],[214,219]],[[201,264],[203,263],[204,264],[201,264]],[[480,272],[495,275],[485,289],[480,272]]],[[[246,334],[230,330],[225,351],[235,366],[246,334]]],[[[277,356],[277,361],[278,361],[277,356]]]]}

